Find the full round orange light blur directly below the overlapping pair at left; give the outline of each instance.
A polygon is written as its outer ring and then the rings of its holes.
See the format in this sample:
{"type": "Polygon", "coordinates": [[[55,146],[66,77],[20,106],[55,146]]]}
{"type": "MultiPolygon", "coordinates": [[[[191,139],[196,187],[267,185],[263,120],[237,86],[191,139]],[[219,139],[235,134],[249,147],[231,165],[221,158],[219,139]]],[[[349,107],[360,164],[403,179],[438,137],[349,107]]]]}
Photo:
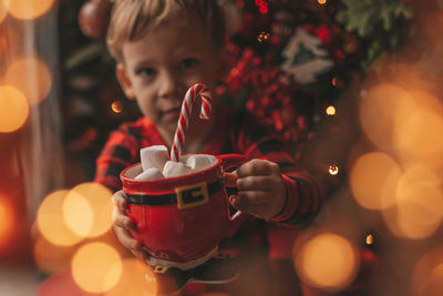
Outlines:
{"type": "Polygon", "coordinates": [[[75,253],[71,272],[75,283],[89,293],[104,293],[114,287],[122,275],[122,258],[107,244],[90,243],[75,253]]]}

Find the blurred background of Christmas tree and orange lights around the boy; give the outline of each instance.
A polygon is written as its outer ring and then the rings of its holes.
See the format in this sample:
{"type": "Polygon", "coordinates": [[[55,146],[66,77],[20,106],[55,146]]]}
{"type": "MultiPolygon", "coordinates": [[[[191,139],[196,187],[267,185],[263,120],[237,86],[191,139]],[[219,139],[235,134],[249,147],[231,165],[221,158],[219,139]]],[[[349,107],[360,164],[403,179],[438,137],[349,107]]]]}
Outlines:
{"type": "MultiPolygon", "coordinates": [[[[222,2],[231,71],[215,92],[327,192],[293,242],[303,295],[443,295],[443,1],[222,2]]],[[[140,116],[106,52],[110,8],[0,0],[0,295],[61,274],[45,295],[146,288],[92,183],[109,133],[140,116]]]]}

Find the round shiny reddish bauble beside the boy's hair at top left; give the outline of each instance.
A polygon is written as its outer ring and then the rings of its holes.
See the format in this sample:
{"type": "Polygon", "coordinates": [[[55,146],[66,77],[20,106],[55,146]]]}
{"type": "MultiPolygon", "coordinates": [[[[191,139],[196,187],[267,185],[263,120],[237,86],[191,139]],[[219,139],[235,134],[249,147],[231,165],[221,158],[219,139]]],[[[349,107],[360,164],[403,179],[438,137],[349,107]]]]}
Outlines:
{"type": "Polygon", "coordinates": [[[79,25],[89,38],[103,38],[110,20],[111,3],[109,0],[90,0],[79,11],[79,25]]]}

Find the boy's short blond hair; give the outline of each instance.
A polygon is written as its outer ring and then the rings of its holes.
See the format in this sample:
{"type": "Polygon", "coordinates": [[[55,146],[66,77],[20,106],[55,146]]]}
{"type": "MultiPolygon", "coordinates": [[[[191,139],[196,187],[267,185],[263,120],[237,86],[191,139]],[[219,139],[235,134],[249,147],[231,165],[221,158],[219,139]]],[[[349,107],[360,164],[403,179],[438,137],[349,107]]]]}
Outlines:
{"type": "Polygon", "coordinates": [[[148,30],[178,12],[202,21],[216,48],[223,45],[225,19],[217,0],[114,0],[106,44],[117,62],[123,62],[121,45],[142,38],[148,30]]]}

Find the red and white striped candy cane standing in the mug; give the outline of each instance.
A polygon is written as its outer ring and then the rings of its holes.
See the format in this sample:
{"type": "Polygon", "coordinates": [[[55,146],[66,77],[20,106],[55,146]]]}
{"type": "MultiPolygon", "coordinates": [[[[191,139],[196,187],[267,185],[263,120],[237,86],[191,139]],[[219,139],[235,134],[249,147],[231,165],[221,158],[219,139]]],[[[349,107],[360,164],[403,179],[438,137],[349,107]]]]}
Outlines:
{"type": "Polygon", "coordinates": [[[172,161],[179,162],[183,146],[185,145],[185,135],[189,122],[190,111],[193,110],[193,104],[195,99],[197,99],[197,95],[202,98],[200,119],[208,120],[210,118],[213,103],[210,92],[204,84],[194,84],[187,90],[185,99],[182,103],[182,111],[178,118],[177,129],[175,130],[174,142],[171,147],[172,161]]]}

